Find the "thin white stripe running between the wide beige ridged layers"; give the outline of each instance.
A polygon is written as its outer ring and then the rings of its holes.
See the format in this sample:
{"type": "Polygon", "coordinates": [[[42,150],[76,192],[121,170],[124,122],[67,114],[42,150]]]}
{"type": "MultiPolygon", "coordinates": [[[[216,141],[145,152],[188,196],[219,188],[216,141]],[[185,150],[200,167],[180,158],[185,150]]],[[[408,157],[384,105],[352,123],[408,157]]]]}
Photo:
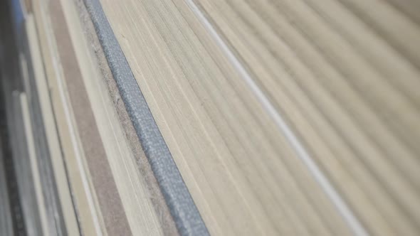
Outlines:
{"type": "Polygon", "coordinates": [[[197,18],[201,21],[201,23],[204,25],[204,27],[209,31],[211,36],[214,38],[216,43],[221,47],[221,49],[224,51],[226,56],[229,58],[233,66],[238,70],[238,72],[241,74],[241,77],[243,80],[246,81],[246,83],[251,87],[251,90],[254,92],[258,100],[261,102],[263,107],[267,110],[268,114],[271,115],[273,118],[275,124],[277,124],[278,128],[281,132],[283,132],[286,139],[288,139],[291,146],[293,146],[293,149],[295,149],[296,153],[298,154],[299,158],[305,163],[305,165],[308,167],[310,173],[314,176],[316,181],[320,184],[321,188],[325,193],[328,195],[332,203],[334,203],[337,210],[340,212],[342,217],[347,222],[347,225],[352,229],[352,231],[355,233],[355,235],[365,236],[369,235],[366,230],[364,230],[364,227],[359,222],[359,220],[355,217],[355,215],[352,213],[352,210],[347,206],[345,201],[340,197],[339,193],[335,191],[335,188],[331,185],[330,181],[325,177],[325,175],[320,171],[320,168],[318,168],[317,164],[308,154],[308,151],[305,150],[303,145],[298,140],[297,136],[293,134],[293,131],[288,127],[288,124],[285,122],[283,117],[277,112],[277,110],[273,107],[273,104],[268,100],[266,95],[260,90],[258,85],[256,85],[256,82],[252,79],[252,77],[248,74],[248,72],[243,68],[242,64],[238,61],[238,59],[233,55],[231,50],[229,49],[228,45],[224,43],[222,38],[219,36],[219,34],[216,32],[216,30],[211,26],[211,23],[206,19],[204,14],[200,11],[200,9],[194,4],[193,0],[187,0],[187,4],[189,5],[191,11],[196,14],[197,18]]]}

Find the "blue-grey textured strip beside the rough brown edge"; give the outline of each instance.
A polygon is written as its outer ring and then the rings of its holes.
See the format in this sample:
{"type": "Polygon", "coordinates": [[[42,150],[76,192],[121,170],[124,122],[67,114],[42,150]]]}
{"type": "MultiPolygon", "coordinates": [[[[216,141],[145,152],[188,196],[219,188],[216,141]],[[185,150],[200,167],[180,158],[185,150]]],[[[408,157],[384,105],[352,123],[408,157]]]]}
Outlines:
{"type": "Polygon", "coordinates": [[[209,235],[98,0],[84,0],[112,75],[180,235],[209,235]]]}

